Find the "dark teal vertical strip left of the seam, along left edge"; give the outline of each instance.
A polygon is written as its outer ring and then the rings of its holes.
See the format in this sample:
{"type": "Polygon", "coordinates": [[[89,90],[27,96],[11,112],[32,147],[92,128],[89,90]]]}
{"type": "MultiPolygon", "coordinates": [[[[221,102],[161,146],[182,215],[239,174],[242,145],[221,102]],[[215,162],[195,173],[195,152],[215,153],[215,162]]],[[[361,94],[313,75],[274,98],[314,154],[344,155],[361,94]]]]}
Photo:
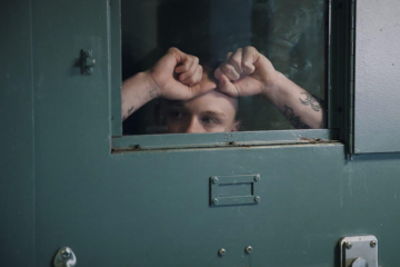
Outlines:
{"type": "Polygon", "coordinates": [[[34,260],[30,2],[0,2],[0,266],[34,260]]]}

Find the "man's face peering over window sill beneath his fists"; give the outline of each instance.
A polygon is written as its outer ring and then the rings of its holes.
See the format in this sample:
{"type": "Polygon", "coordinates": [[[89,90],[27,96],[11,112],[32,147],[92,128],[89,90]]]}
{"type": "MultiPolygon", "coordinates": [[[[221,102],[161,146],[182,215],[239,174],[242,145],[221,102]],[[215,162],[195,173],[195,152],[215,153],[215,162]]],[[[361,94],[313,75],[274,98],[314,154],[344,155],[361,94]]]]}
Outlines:
{"type": "Polygon", "coordinates": [[[168,134],[237,131],[238,100],[216,90],[167,105],[168,134]]]}

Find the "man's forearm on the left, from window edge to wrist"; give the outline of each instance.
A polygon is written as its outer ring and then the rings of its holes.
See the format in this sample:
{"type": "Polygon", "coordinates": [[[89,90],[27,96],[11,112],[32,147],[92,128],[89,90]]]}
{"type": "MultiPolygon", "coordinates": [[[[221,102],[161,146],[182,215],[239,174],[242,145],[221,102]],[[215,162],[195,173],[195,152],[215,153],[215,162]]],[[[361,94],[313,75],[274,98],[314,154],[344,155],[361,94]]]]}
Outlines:
{"type": "Polygon", "coordinates": [[[122,83],[122,120],[144,103],[158,97],[154,82],[148,72],[139,72],[122,83]]]}

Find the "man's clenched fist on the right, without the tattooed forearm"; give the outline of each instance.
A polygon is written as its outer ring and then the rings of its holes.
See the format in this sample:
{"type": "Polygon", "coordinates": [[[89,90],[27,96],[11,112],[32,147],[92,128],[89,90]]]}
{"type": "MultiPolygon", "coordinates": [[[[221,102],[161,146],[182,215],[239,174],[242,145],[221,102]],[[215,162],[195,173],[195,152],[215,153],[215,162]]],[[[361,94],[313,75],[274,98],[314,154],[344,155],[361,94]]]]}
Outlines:
{"type": "Polygon", "coordinates": [[[229,52],[227,59],[214,71],[219,89],[231,97],[263,95],[276,87],[279,72],[271,61],[253,47],[229,52]]]}

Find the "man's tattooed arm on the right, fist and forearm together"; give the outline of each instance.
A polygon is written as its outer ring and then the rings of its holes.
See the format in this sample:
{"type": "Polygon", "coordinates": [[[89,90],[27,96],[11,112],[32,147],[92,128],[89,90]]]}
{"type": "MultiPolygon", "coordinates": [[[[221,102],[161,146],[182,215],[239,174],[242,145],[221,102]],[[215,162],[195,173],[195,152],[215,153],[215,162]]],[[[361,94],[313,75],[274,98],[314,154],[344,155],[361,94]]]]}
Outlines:
{"type": "Polygon", "coordinates": [[[231,97],[262,95],[294,128],[323,127],[323,109],[304,89],[278,72],[253,47],[230,52],[214,72],[219,88],[231,97]]]}

